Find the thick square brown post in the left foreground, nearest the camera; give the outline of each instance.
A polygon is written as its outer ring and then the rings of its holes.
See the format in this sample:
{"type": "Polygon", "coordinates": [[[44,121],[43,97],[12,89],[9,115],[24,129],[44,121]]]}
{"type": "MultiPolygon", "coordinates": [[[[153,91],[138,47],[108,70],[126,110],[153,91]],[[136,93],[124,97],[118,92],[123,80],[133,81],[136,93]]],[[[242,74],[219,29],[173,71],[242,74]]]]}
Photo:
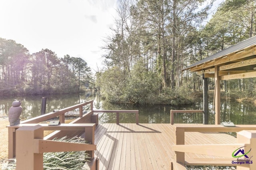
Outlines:
{"type": "Polygon", "coordinates": [[[16,169],[43,170],[43,153],[34,153],[34,139],[43,139],[43,127],[20,127],[16,131],[16,169]]]}

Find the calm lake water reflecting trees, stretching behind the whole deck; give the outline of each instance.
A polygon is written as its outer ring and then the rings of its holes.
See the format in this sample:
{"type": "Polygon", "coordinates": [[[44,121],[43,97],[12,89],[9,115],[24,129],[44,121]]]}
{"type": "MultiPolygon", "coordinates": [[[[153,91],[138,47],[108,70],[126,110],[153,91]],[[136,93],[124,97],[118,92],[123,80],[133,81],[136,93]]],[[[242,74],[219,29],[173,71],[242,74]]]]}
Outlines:
{"type": "MultiPolygon", "coordinates": [[[[170,123],[171,109],[202,109],[202,100],[192,106],[169,105],[134,105],[134,104],[109,104],[100,97],[100,92],[83,94],[58,94],[44,96],[8,96],[0,97],[0,116],[8,116],[8,110],[14,99],[22,102],[22,120],[36,117],[41,114],[42,97],[47,98],[46,113],[54,109],[62,109],[85,101],[94,100],[94,109],[138,109],[139,123],[170,123]]],[[[212,99],[209,99],[212,101],[212,99]]],[[[231,120],[234,124],[256,124],[256,106],[230,101],[222,101],[221,121],[231,120]]],[[[209,124],[214,124],[215,115],[212,113],[212,103],[209,103],[209,124]]],[[[101,113],[100,123],[115,123],[115,113],[101,113]]],[[[135,123],[134,113],[120,113],[120,123],[135,123]]],[[[202,113],[179,113],[174,115],[174,123],[202,123],[202,113]]]]}

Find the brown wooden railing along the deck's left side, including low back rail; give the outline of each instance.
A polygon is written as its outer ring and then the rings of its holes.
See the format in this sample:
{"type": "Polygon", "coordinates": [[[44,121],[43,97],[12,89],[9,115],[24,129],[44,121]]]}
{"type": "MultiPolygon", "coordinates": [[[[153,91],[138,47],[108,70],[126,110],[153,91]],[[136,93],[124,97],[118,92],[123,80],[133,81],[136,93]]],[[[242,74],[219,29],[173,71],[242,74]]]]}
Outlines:
{"type": "Polygon", "coordinates": [[[66,107],[56,112],[47,113],[22,121],[19,125],[8,127],[8,158],[16,156],[17,169],[42,169],[43,152],[60,152],[87,150],[92,157],[90,169],[98,169],[98,158],[94,158],[94,131],[98,125],[98,113],[116,113],[116,123],[119,124],[119,113],[136,113],[136,124],[139,123],[138,110],[93,110],[93,100],[66,107]],[[90,111],[83,114],[83,106],[90,104],[90,111]],[[79,118],[65,124],[65,113],[79,108],[79,118]],[[49,126],[47,123],[41,123],[52,118],[59,117],[60,125],[49,126]],[[44,130],[53,130],[54,132],[43,137],[44,130]],[[85,134],[85,140],[91,143],[74,144],[51,141],[54,138],[63,136],[74,136],[76,134],[85,134]],[[24,153],[28,153],[24,155],[24,153]],[[29,165],[29,167],[28,167],[29,165]]]}

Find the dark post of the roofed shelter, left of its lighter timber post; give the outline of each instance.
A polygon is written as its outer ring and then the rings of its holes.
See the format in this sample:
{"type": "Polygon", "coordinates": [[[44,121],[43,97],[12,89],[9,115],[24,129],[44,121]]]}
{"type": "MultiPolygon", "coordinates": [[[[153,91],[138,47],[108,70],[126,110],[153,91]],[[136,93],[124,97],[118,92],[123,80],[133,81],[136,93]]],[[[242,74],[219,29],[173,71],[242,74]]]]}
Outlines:
{"type": "Polygon", "coordinates": [[[203,124],[209,124],[209,106],[208,106],[208,78],[203,74],[203,124]]]}

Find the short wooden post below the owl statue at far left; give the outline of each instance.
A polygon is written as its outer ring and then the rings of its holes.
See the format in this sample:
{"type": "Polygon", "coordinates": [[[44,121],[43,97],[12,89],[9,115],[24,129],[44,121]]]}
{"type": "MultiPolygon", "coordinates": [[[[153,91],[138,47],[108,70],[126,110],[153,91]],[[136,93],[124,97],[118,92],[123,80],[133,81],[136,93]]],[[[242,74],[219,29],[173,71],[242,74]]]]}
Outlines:
{"type": "Polygon", "coordinates": [[[13,159],[16,156],[16,129],[8,127],[8,159],[13,159]]]}

